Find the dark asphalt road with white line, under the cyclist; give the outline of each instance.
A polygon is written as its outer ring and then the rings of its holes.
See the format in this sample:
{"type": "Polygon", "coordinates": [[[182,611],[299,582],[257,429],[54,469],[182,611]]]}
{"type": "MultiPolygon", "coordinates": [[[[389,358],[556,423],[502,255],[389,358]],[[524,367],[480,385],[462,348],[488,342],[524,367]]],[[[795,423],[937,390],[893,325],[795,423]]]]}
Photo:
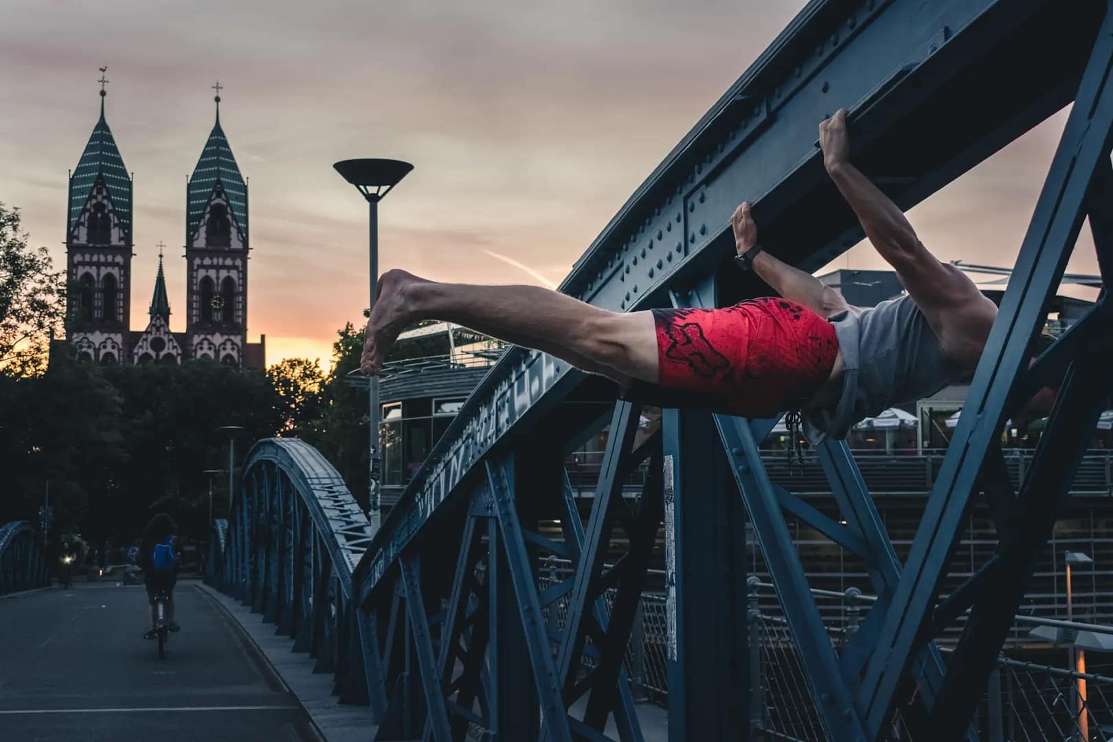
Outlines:
{"type": "Polygon", "coordinates": [[[190,581],[166,659],[141,586],[75,583],[0,600],[0,740],[317,740],[242,630],[190,581]]]}

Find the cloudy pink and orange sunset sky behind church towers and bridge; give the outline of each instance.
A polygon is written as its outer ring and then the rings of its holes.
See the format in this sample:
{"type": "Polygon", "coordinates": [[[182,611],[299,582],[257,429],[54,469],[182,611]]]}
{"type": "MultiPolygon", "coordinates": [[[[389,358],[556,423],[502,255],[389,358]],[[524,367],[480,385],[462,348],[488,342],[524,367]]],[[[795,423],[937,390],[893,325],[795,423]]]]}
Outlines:
{"type": "MultiPolygon", "coordinates": [[[[250,179],[252,339],[266,334],[268,364],[327,363],[367,303],[366,207],[335,160],[416,166],[381,207],[382,269],[553,286],[804,4],[6,0],[0,201],[65,265],[67,170],[107,65],[108,123],[135,172],[131,326],[146,326],[162,240],[184,329],[185,178],[219,79],[250,179]]],[[[1011,265],[1064,120],[915,209],[923,241],[1011,265]]],[[[867,245],[846,265],[881,267],[867,245]]],[[[1089,239],[1071,269],[1095,270],[1089,239]]]]}

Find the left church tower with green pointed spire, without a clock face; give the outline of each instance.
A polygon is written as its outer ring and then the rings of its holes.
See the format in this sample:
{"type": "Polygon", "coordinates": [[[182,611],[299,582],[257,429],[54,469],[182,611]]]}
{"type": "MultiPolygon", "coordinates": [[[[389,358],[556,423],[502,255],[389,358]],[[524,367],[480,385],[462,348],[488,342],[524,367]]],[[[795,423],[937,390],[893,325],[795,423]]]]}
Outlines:
{"type": "Polygon", "coordinates": [[[67,337],[79,358],[110,364],[128,356],[132,180],[105,119],[106,70],[100,119],[69,179],[66,273],[67,337]]]}

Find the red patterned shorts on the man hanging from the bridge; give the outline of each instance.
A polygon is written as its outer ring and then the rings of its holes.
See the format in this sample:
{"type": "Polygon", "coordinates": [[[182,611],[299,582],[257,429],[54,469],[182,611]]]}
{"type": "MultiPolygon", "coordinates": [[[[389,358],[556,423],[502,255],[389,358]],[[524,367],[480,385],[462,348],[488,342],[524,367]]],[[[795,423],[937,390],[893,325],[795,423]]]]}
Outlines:
{"type": "Polygon", "coordinates": [[[715,412],[784,412],[819,390],[838,355],[834,325],[777,297],[722,309],[653,309],[653,321],[659,387],[693,393],[695,406],[715,412]],[[701,405],[700,397],[713,402],[701,405]]]}

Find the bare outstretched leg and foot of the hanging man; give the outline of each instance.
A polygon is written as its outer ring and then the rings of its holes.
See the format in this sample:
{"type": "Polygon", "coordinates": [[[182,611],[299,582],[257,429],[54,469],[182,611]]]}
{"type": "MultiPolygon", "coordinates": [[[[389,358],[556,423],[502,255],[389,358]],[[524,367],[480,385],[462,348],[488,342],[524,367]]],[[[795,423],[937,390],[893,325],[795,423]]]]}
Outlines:
{"type": "Polygon", "coordinates": [[[365,373],[378,373],[411,323],[441,319],[535,348],[620,384],[658,380],[657,330],[649,311],[621,314],[538,286],[437,284],[403,270],[383,274],[367,323],[365,373]]]}

